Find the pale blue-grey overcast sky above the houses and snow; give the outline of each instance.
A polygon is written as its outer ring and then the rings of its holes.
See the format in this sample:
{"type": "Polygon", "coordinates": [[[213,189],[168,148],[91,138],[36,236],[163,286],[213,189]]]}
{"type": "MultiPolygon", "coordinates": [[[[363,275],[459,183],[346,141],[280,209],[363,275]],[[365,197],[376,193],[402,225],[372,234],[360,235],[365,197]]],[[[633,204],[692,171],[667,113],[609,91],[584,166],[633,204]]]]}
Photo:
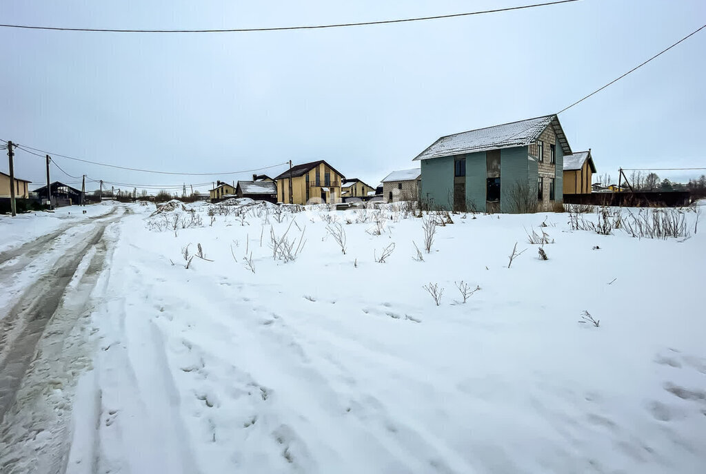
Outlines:
{"type": "MultiPolygon", "coordinates": [[[[528,0],[5,0],[1,23],[252,28],[431,16],[528,0]]],[[[0,138],[121,166],[239,171],[325,159],[372,186],[442,135],[552,114],[706,23],[704,0],[582,0],[328,30],[149,35],[0,28],[0,138]]],[[[706,166],[706,30],[559,116],[599,173],[706,166]]],[[[69,174],[164,176],[56,157],[69,174]]],[[[7,171],[0,159],[0,171],[7,171]]],[[[280,166],[270,176],[284,171],[280,166]]],[[[658,172],[676,179],[691,174],[658,172]]],[[[44,161],[18,150],[16,176],[44,161]]],[[[75,182],[57,169],[54,179],[75,182]]],[[[86,186],[95,189],[95,184],[86,186]]],[[[210,186],[200,186],[208,190],[210,186]]]]}

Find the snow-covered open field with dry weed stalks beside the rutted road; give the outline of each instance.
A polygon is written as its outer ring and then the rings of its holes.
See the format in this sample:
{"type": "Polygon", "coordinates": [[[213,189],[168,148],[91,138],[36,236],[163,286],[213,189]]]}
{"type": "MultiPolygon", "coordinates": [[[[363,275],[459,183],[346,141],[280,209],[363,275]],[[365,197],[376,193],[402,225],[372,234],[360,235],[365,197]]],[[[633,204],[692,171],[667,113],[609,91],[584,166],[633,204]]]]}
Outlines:
{"type": "Polygon", "coordinates": [[[3,473],[706,472],[698,207],[229,204],[0,217],[4,320],[42,272],[19,241],[104,229],[0,424],[3,473]],[[677,236],[633,236],[654,219],[677,236]]]}

